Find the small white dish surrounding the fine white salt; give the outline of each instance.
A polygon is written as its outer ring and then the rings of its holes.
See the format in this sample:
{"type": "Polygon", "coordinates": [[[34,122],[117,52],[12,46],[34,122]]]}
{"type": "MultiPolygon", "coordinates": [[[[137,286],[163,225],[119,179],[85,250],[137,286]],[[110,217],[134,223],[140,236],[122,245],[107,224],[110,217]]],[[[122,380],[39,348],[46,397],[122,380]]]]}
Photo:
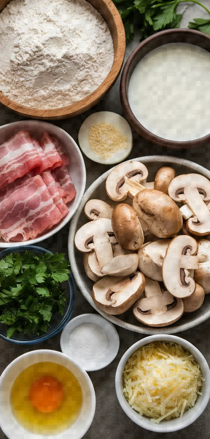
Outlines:
{"type": "Polygon", "coordinates": [[[61,350],[63,353],[69,356],[69,358],[75,363],[83,367],[85,371],[98,371],[103,367],[108,366],[116,357],[119,351],[119,335],[115,327],[106,320],[104,317],[98,316],[98,314],[81,314],[74,317],[63,329],[60,339],[61,350]],[[81,358],[72,353],[69,346],[69,337],[72,331],[79,325],[84,323],[92,323],[100,326],[106,333],[108,338],[108,346],[104,353],[97,358],[81,358]]]}

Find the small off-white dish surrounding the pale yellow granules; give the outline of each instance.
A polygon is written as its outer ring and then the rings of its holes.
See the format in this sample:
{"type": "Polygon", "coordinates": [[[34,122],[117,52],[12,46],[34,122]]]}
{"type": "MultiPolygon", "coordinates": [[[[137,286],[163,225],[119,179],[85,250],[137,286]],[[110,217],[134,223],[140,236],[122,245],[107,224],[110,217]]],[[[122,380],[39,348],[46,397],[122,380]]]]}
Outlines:
{"type": "Polygon", "coordinates": [[[101,111],[98,113],[93,113],[90,116],[88,116],[87,119],[85,119],[83,124],[80,126],[78,140],[79,140],[80,148],[83,151],[83,153],[87,155],[88,158],[93,160],[93,162],[102,163],[103,165],[112,165],[114,163],[122,162],[127,158],[127,156],[130,154],[130,151],[133,148],[132,131],[127,120],[124,119],[119,114],[108,112],[108,111],[101,111]],[[127,148],[119,149],[119,151],[114,152],[106,160],[100,158],[99,155],[96,155],[94,151],[91,150],[88,140],[88,134],[91,126],[97,125],[102,122],[109,123],[114,128],[116,128],[116,130],[119,130],[119,132],[123,136],[127,137],[127,143],[128,143],[127,148]]]}

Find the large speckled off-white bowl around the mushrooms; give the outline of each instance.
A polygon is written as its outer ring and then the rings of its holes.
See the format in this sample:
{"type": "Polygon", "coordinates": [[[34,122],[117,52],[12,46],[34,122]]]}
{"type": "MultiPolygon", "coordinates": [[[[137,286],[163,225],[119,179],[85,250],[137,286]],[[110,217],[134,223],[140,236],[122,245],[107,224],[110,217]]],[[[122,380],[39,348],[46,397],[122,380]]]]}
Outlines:
{"type": "MultiPolygon", "coordinates": [[[[186,173],[199,173],[210,180],[210,171],[203,168],[203,166],[197,165],[196,163],[181,158],[150,155],[145,157],[138,157],[134,160],[142,162],[145,164],[145,166],[147,166],[149,173],[148,181],[154,181],[158,169],[161,168],[161,166],[167,165],[173,166],[174,169],[176,169],[177,171],[177,175],[186,173]]],[[[204,322],[210,317],[210,295],[206,295],[203,305],[197,311],[195,311],[194,313],[184,314],[181,319],[179,319],[174,324],[162,328],[149,327],[136,320],[132,313],[132,307],[126,313],[120,314],[119,316],[111,316],[110,314],[101,311],[101,309],[99,309],[98,306],[95,305],[91,294],[94,282],[92,282],[85,273],[85,270],[83,268],[83,254],[78,252],[78,250],[76,249],[74,245],[74,236],[76,234],[76,231],[88,221],[83,213],[84,205],[87,203],[88,200],[90,200],[91,198],[100,198],[101,200],[104,200],[107,203],[114,205],[105,191],[105,181],[110,171],[111,169],[102,174],[97,180],[94,181],[93,184],[91,184],[89,189],[87,189],[87,191],[83,195],[82,201],[80,202],[80,207],[73,216],[70,225],[68,243],[69,260],[75,281],[80,288],[83,296],[94,307],[94,309],[96,309],[102,316],[110,320],[112,323],[129,329],[130,331],[141,332],[142,334],[174,334],[176,332],[185,331],[186,329],[190,329],[204,322]]]]}

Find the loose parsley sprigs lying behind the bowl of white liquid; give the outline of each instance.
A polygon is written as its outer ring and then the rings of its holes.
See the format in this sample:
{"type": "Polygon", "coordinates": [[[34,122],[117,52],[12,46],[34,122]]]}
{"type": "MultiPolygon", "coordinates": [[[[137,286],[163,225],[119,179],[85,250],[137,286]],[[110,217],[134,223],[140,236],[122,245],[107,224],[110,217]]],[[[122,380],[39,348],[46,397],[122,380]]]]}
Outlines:
{"type": "MultiPolygon", "coordinates": [[[[191,2],[199,4],[210,15],[210,10],[197,0],[113,0],[123,20],[126,38],[134,37],[134,26],[141,30],[144,40],[159,30],[180,27],[182,14],[177,14],[180,3],[191,2]]],[[[189,29],[197,29],[210,35],[210,18],[194,18],[189,29]]]]}

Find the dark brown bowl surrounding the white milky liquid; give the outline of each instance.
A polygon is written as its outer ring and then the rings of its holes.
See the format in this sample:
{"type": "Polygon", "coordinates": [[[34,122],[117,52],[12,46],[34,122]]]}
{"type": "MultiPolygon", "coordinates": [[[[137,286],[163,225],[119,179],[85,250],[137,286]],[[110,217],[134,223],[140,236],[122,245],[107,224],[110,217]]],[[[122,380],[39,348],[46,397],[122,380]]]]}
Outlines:
{"type": "Polygon", "coordinates": [[[151,50],[168,43],[189,43],[195,46],[202,47],[203,49],[210,52],[210,35],[206,35],[203,32],[192,29],[169,29],[158,32],[148,37],[133,50],[123,68],[123,73],[120,81],[120,99],[123,110],[128,122],[131,126],[133,126],[134,130],[137,131],[137,133],[140,134],[141,137],[144,137],[150,142],[153,142],[160,146],[176,149],[186,149],[196,146],[199,147],[205,144],[207,141],[210,141],[210,134],[204,137],[200,137],[196,140],[188,141],[164,139],[163,137],[159,137],[156,136],[156,134],[151,133],[151,131],[148,131],[143,125],[141,125],[141,123],[138,121],[138,119],[136,119],[134,113],[130,108],[130,104],[128,101],[128,84],[134,68],[145,55],[151,52],[151,50]]]}

